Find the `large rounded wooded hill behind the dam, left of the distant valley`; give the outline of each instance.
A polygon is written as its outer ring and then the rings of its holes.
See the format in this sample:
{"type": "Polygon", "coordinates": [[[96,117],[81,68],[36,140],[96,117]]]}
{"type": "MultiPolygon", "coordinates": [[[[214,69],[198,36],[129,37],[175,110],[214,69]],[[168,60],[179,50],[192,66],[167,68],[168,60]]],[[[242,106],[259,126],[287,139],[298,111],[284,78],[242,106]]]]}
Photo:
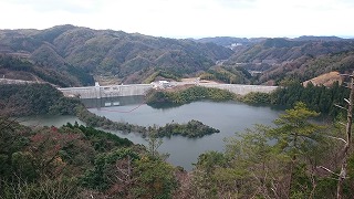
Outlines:
{"type": "Polygon", "coordinates": [[[29,57],[54,69],[70,64],[91,74],[138,83],[159,71],[173,76],[205,71],[233,52],[214,43],[59,25],[45,30],[0,30],[0,53],[29,57]]]}

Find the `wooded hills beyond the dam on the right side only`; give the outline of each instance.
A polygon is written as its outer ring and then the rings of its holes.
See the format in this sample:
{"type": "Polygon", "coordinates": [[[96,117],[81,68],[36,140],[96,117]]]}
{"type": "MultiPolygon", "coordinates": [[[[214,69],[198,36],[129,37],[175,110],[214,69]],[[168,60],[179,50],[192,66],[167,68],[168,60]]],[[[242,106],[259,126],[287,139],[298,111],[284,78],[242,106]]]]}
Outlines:
{"type": "Polygon", "coordinates": [[[354,40],[278,38],[238,49],[223,64],[256,71],[256,84],[272,85],[290,77],[306,81],[331,71],[354,70],[353,54],[354,40]]]}

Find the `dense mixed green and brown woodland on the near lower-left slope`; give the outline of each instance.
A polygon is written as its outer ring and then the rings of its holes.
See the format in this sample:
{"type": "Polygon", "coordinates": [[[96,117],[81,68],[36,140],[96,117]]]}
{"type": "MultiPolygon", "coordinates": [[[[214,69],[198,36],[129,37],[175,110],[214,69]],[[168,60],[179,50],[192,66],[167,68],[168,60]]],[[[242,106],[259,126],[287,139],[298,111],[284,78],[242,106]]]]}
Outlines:
{"type": "Polygon", "coordinates": [[[171,198],[175,168],[149,147],[71,125],[0,119],[0,198],[171,198]]]}

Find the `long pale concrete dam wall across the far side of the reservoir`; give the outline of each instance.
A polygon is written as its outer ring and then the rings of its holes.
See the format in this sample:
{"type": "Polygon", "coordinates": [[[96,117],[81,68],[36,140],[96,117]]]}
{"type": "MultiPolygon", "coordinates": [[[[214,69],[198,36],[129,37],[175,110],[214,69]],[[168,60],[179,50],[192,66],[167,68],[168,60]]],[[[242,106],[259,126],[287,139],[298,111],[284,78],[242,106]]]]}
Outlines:
{"type": "MultiPolygon", "coordinates": [[[[186,83],[189,84],[189,83],[186,83]]],[[[175,84],[176,85],[176,84],[175,84]]],[[[184,85],[184,83],[178,83],[184,85]]],[[[243,85],[243,84],[216,84],[216,83],[198,83],[195,84],[205,87],[216,87],[227,90],[231,93],[246,95],[251,92],[270,93],[277,90],[278,86],[263,86],[263,85],[243,85]]],[[[117,97],[117,96],[136,96],[145,95],[152,88],[166,88],[168,85],[159,86],[158,84],[127,84],[127,85],[107,85],[86,86],[86,87],[66,87],[59,88],[65,96],[77,96],[80,98],[103,98],[103,97],[117,97]]]]}

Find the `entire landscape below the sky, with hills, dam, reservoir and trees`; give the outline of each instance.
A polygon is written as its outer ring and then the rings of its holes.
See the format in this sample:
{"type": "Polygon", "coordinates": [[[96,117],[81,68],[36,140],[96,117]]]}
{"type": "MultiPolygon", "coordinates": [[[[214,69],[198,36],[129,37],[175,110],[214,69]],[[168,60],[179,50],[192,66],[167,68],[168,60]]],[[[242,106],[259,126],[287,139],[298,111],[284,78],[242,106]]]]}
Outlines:
{"type": "Polygon", "coordinates": [[[337,36],[0,30],[0,198],[353,198],[353,70],[337,36]]]}

